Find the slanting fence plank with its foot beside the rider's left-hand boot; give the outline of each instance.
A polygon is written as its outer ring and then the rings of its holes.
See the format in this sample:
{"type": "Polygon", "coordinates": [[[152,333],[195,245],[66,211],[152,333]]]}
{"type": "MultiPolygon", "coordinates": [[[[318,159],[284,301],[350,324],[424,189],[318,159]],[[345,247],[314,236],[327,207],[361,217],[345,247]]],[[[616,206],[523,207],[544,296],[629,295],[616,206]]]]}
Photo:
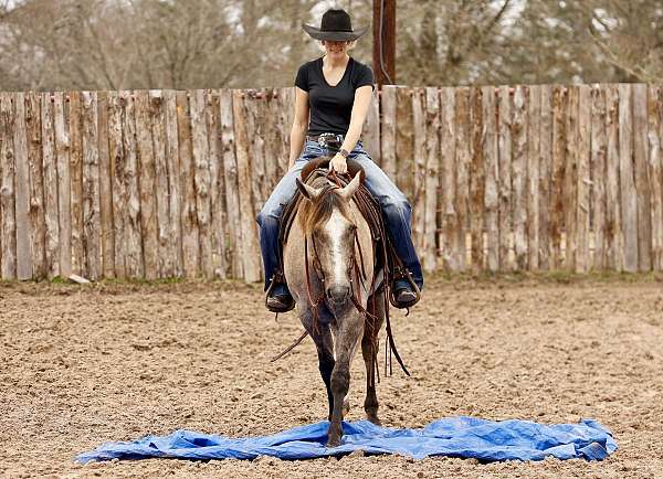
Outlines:
{"type": "Polygon", "coordinates": [[[259,281],[261,278],[260,247],[255,214],[251,202],[251,174],[249,160],[249,138],[246,136],[246,117],[242,107],[242,92],[232,92],[234,117],[235,155],[238,168],[238,192],[240,196],[241,243],[240,255],[244,279],[259,281]]]}

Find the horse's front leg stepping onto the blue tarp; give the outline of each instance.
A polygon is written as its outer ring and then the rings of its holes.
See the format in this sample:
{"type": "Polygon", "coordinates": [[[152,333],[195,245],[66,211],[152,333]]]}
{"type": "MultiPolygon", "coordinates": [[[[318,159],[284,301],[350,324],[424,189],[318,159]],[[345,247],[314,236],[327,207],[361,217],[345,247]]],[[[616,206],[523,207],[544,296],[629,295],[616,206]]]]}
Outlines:
{"type": "Polygon", "coordinates": [[[336,364],[332,372],[332,394],[334,408],[329,424],[328,447],[340,445],[343,436],[343,402],[350,387],[350,363],[364,334],[364,316],[358,311],[350,311],[338,321],[338,329],[334,334],[336,364]]]}

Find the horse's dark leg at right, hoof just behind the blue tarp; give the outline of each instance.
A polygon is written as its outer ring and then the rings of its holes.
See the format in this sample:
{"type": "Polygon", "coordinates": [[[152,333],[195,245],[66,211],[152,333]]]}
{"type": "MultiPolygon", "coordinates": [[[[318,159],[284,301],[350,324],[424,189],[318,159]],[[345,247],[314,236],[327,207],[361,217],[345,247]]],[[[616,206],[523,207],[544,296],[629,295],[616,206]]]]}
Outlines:
{"type": "Polygon", "coordinates": [[[378,395],[376,393],[376,356],[379,348],[378,333],[385,320],[385,296],[376,294],[368,298],[369,312],[376,318],[366,318],[364,337],[361,338],[361,354],[366,363],[366,400],[364,401],[364,411],[366,417],[373,424],[380,425],[378,417],[378,395]],[[375,301],[375,307],[373,306],[375,301]]]}

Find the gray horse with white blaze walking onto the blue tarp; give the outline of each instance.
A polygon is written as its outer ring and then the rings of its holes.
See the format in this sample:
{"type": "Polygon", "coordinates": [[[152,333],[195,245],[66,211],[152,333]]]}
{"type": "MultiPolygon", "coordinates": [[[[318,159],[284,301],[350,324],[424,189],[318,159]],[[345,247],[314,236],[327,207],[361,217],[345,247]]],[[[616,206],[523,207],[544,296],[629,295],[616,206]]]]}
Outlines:
{"type": "Polygon", "coordinates": [[[297,180],[304,200],[283,248],[287,285],[299,320],[317,348],[319,371],[327,387],[329,447],[338,446],[343,436],[350,363],[359,342],[367,372],[364,408],[370,422],[380,424],[375,373],[385,301],[383,295],[371,290],[372,238],[352,201],[359,181],[360,173],[345,188],[326,178],[314,179],[309,184],[297,180]]]}

